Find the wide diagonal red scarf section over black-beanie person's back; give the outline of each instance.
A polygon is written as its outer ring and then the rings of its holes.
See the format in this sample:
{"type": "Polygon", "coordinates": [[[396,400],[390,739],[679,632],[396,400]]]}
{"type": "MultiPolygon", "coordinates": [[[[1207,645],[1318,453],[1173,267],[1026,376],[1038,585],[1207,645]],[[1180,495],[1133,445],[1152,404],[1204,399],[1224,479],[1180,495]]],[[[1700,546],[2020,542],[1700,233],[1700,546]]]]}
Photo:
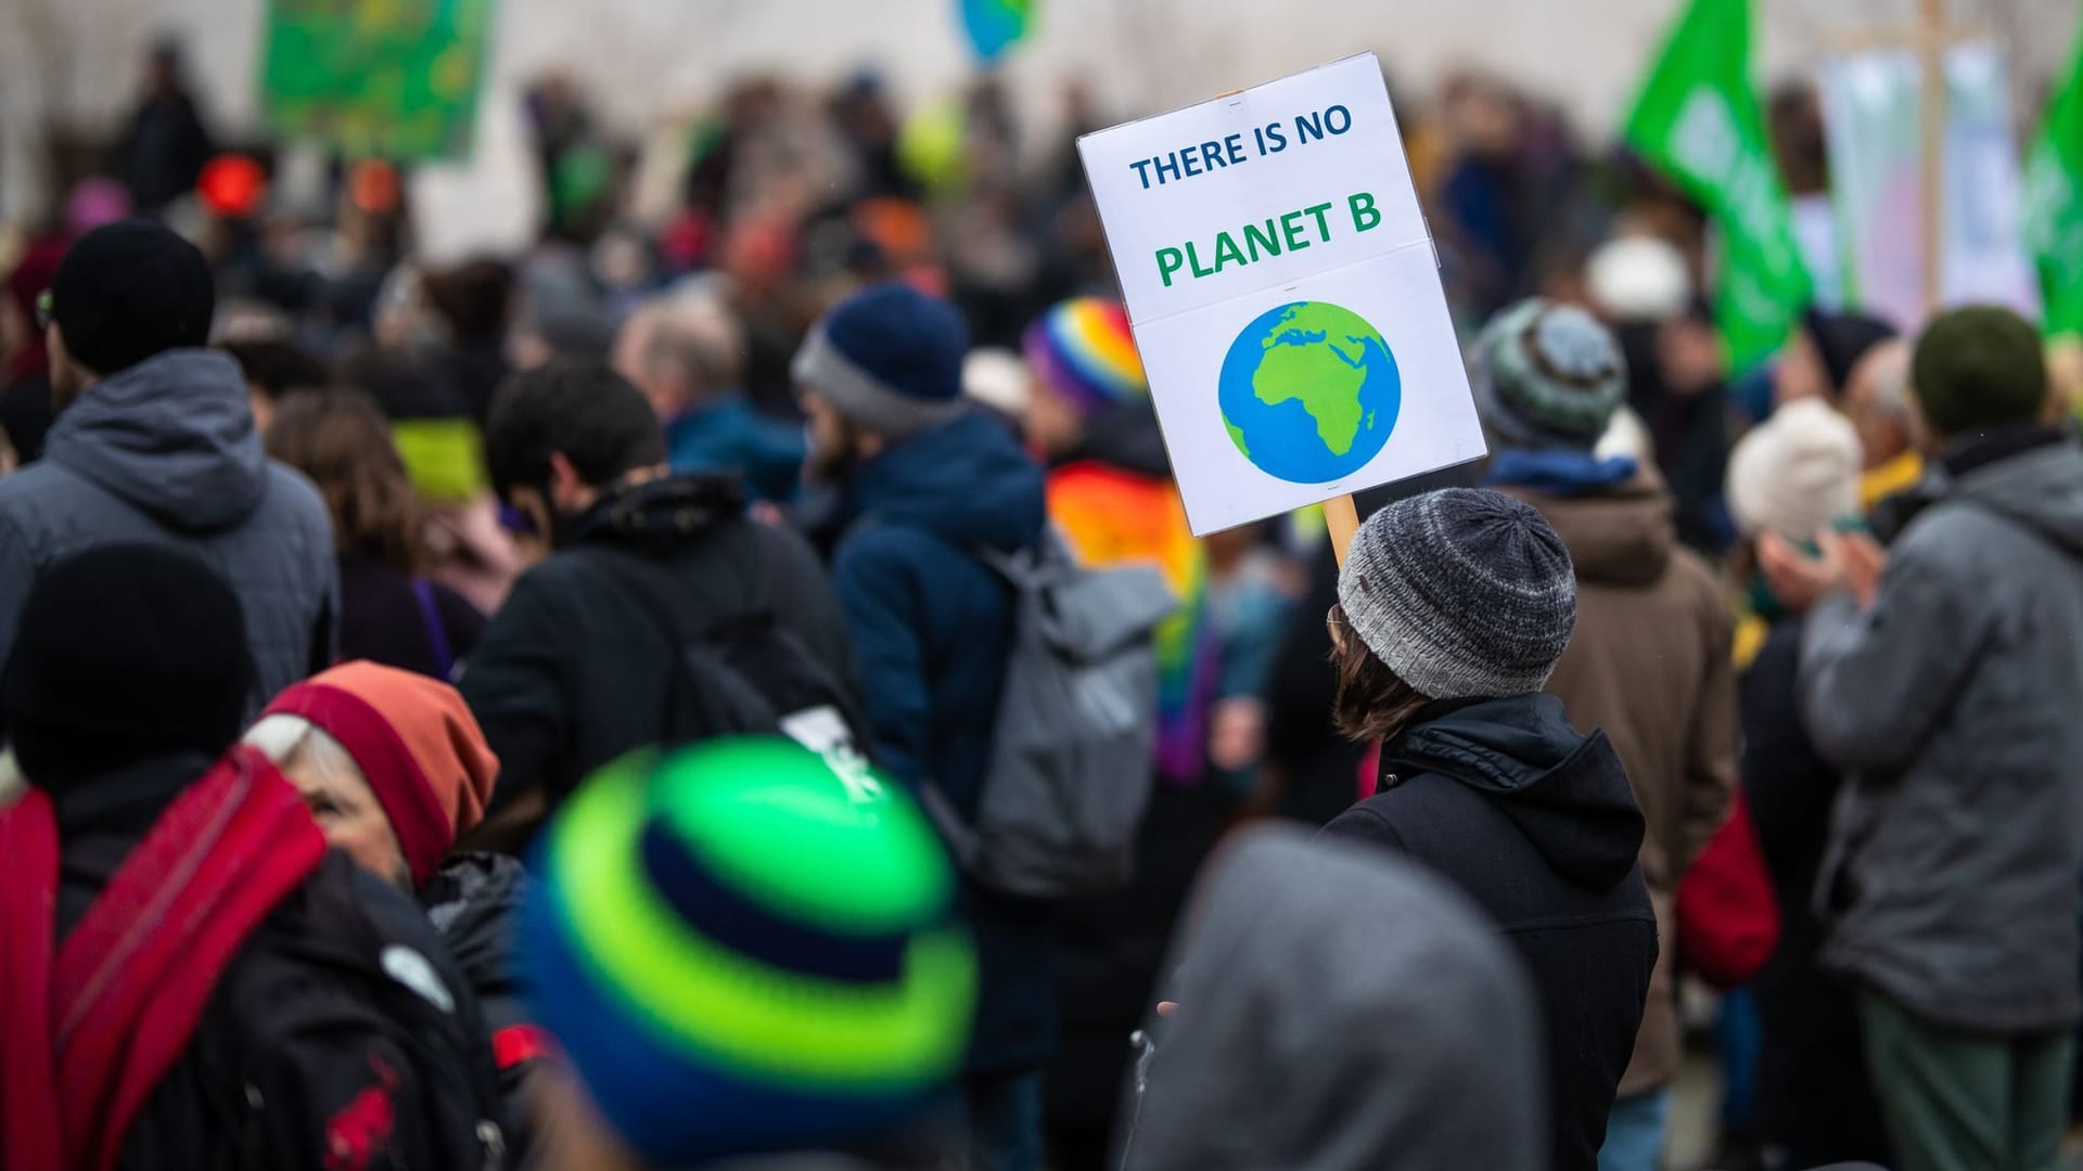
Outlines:
{"type": "Polygon", "coordinates": [[[65,1167],[117,1165],[225,965],[323,858],[304,802],[250,748],[167,806],[58,946],[50,1040],[65,1167]]]}

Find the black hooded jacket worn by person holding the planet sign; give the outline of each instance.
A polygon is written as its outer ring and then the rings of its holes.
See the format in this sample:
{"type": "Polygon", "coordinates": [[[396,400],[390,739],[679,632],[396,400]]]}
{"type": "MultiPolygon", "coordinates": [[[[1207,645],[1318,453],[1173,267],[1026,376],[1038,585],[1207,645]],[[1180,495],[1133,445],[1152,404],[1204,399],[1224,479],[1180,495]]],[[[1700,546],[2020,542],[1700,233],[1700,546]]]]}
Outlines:
{"type": "Polygon", "coordinates": [[[1656,967],[1641,811],[1612,744],[1554,696],[1437,702],[1383,746],[1381,792],[1325,833],[1408,854],[1489,913],[1541,1006],[1548,1165],[1596,1167],[1656,967]]]}

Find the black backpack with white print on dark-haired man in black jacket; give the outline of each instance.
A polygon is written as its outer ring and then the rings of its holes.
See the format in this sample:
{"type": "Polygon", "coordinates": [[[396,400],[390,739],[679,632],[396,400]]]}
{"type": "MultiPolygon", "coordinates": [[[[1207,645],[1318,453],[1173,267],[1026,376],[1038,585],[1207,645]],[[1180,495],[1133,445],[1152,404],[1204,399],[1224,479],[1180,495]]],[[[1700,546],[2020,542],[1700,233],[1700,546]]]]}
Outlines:
{"type": "Polygon", "coordinates": [[[679,646],[664,690],[658,744],[675,748],[739,733],[783,733],[819,752],[860,752],[867,723],[850,690],[804,646],[769,604],[771,565],[758,533],[737,538],[742,567],[685,581],[669,565],[610,546],[587,546],[602,573],[635,598],[679,646]]]}

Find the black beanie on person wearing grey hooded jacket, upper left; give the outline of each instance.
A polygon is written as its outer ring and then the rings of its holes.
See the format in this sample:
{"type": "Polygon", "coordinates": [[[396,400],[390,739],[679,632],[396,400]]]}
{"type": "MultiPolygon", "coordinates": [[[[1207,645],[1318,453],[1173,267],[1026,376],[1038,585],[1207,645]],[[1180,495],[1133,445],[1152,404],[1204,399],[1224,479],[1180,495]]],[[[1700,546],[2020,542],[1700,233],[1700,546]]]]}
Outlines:
{"type": "Polygon", "coordinates": [[[50,283],[65,352],[102,377],[167,350],[208,346],[215,313],[202,250],[150,219],[81,235],[50,283]]]}

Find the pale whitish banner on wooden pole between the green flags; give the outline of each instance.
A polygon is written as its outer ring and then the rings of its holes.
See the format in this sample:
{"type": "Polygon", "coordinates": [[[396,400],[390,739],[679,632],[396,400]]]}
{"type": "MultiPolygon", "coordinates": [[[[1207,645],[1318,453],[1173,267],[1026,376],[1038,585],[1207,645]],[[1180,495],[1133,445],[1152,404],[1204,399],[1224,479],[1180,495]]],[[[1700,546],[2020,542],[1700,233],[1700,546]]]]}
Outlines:
{"type": "Polygon", "coordinates": [[[2002,52],[1985,42],[1950,46],[1943,77],[1946,119],[1933,169],[1925,160],[1918,52],[1883,48],[1823,67],[1846,300],[1902,329],[1921,327],[1948,304],[2006,304],[2039,317],[2002,52]],[[1927,200],[1933,171],[1939,198],[1927,200]],[[1925,223],[1933,210],[1937,233],[1925,223]],[[1925,271],[1931,240],[1939,242],[1935,275],[1925,271]]]}

